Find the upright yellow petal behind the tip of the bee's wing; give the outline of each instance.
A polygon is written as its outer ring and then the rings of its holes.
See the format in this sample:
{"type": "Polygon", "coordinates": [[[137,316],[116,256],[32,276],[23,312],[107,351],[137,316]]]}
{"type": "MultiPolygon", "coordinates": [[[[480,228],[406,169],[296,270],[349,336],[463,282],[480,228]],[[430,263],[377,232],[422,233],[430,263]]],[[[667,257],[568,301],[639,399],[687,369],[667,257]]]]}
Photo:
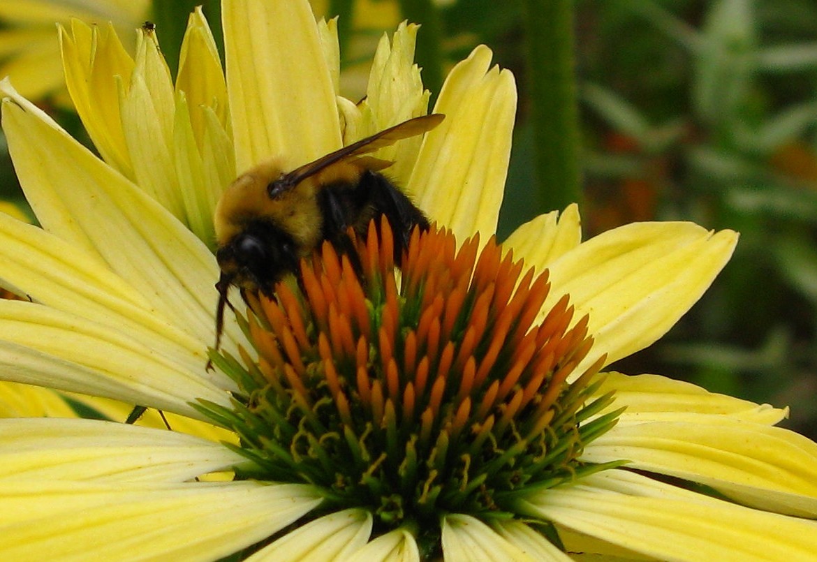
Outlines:
{"type": "Polygon", "coordinates": [[[431,219],[482,243],[496,232],[516,114],[513,75],[489,70],[491,56],[476,47],[446,78],[434,108],[445,120],[426,135],[407,185],[431,219]]]}

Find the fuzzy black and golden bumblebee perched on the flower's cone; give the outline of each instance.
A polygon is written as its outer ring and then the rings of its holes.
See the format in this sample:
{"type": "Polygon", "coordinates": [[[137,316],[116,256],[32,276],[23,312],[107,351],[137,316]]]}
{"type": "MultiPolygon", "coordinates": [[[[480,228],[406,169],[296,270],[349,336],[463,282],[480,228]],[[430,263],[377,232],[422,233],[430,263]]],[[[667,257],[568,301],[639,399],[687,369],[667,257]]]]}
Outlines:
{"type": "Polygon", "coordinates": [[[248,292],[272,297],[275,283],[286,274],[297,274],[301,257],[324,240],[338,252],[348,252],[350,228],[365,237],[369,221],[385,216],[395,233],[395,263],[400,265],[414,227],[427,230],[429,222],[380,173],[391,162],[366,154],[431,131],[443,118],[431,114],[409,119],[292,172],[284,172],[282,161],[274,158],[239,176],[225,190],[215,215],[221,268],[216,283],[216,348],[231,286],[238,287],[245,300],[248,292]]]}

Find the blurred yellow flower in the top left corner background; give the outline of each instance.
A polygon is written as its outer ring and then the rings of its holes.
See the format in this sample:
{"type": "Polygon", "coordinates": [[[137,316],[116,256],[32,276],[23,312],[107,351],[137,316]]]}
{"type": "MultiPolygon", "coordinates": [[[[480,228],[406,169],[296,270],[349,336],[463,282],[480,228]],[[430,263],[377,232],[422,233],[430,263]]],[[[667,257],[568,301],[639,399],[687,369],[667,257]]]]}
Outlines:
{"type": "Polygon", "coordinates": [[[147,18],[149,0],[13,0],[0,5],[0,77],[11,76],[20,93],[31,99],[64,96],[59,44],[54,23],[76,17],[107,22],[132,41],[132,29],[147,18]]]}

